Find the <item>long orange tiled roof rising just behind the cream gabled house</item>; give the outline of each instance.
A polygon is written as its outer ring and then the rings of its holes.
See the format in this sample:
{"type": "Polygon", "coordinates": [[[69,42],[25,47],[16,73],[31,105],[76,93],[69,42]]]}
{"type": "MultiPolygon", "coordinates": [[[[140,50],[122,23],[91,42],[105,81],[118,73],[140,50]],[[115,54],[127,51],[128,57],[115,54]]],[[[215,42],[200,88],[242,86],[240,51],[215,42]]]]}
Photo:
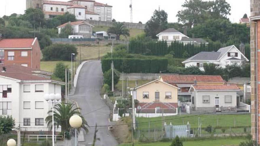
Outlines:
{"type": "Polygon", "coordinates": [[[194,83],[197,82],[213,82],[225,83],[221,76],[206,76],[206,75],[163,75],[161,76],[166,83],[194,83]]]}

